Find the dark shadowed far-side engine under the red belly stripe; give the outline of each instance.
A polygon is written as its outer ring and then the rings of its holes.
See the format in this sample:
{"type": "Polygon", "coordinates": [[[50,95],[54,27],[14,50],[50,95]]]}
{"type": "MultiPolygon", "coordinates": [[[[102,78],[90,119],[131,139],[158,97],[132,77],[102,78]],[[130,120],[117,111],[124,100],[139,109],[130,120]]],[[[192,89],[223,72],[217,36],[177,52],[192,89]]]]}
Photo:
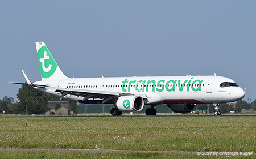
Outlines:
{"type": "Polygon", "coordinates": [[[167,104],[167,106],[176,113],[188,113],[195,110],[195,104],[167,104]]]}

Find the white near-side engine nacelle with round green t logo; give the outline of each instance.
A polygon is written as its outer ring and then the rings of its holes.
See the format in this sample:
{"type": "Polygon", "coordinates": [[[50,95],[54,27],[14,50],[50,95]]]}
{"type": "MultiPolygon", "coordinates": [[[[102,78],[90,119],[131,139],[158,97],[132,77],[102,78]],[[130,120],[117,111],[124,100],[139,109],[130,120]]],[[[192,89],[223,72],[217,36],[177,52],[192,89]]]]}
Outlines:
{"type": "Polygon", "coordinates": [[[144,100],[140,96],[122,96],[118,98],[115,105],[120,111],[141,111],[144,106],[144,100]]]}

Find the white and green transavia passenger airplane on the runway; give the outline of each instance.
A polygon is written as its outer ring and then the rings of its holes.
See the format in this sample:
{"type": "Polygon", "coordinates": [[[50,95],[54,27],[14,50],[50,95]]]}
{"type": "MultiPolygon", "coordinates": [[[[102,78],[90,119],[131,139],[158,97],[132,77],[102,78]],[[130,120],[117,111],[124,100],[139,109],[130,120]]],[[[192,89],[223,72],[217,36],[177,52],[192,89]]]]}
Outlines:
{"type": "Polygon", "coordinates": [[[26,84],[59,98],[83,104],[114,104],[113,116],[138,112],[156,115],[157,105],[166,104],[177,113],[192,112],[196,104],[213,104],[221,115],[221,103],[241,100],[245,92],[232,79],[222,76],[145,76],[118,78],[68,78],[63,74],[44,42],[35,42],[41,81],[32,83],[24,70],[26,84]]]}

